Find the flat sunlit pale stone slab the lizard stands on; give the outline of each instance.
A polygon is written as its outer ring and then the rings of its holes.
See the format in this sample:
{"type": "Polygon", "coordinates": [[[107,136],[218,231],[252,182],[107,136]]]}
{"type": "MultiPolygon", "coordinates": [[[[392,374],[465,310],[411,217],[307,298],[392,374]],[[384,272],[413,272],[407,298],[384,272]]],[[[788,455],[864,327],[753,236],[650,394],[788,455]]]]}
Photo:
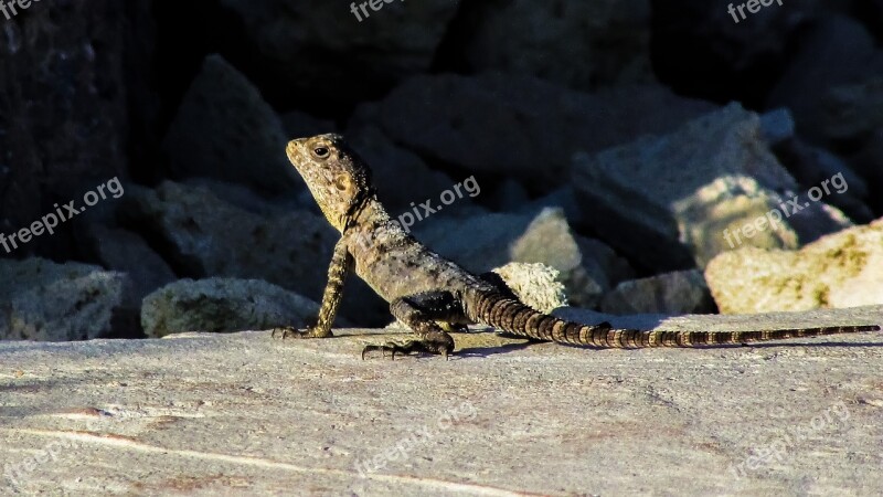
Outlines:
{"type": "MultiPolygon", "coordinates": [[[[645,320],[881,324],[883,307],[645,320]]],[[[448,361],[362,361],[404,337],[338,335],[2,342],[0,495],[883,490],[883,332],[699,350],[476,332],[448,361]]]]}

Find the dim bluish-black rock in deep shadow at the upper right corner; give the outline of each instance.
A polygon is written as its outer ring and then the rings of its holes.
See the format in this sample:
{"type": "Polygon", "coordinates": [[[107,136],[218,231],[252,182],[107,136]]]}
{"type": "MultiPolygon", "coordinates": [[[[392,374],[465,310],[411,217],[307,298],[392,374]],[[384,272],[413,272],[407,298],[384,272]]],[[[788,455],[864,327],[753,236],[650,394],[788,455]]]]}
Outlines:
{"type": "MultiPolygon", "coordinates": [[[[826,117],[842,112],[837,102],[842,95],[826,102],[828,92],[881,73],[883,51],[876,47],[873,35],[862,23],[840,14],[825,17],[791,57],[787,71],[770,92],[767,105],[787,106],[801,135],[823,139],[826,131],[832,131],[826,117]]],[[[834,123],[834,128],[840,125],[834,123]]],[[[844,131],[848,128],[840,130],[844,131]]]]}

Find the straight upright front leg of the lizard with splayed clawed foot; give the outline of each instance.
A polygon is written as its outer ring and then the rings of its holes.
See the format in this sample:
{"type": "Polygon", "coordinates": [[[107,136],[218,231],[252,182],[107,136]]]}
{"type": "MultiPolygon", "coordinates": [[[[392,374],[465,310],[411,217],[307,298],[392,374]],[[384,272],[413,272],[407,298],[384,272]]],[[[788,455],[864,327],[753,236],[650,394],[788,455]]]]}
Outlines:
{"type": "Polygon", "coordinates": [[[273,330],[272,337],[276,338],[277,334],[279,334],[283,339],[288,337],[328,338],[333,336],[331,332],[331,324],[334,322],[334,316],[338,314],[340,299],[343,297],[343,284],[347,283],[347,276],[352,272],[352,267],[353,256],[347,248],[344,239],[341,237],[334,245],[331,264],[328,266],[328,284],[322,294],[322,305],[319,308],[319,316],[316,318],[316,324],[308,326],[304,331],[299,331],[291,326],[276,328],[273,330]]]}

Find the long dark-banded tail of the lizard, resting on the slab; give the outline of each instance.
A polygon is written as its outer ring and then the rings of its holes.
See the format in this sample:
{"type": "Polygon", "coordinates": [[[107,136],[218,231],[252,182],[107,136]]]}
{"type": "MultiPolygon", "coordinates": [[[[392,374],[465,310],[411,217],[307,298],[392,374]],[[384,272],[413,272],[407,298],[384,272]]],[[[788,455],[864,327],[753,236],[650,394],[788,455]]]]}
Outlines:
{"type": "Polygon", "coordinates": [[[648,347],[698,347],[752,341],[781,340],[785,338],[816,337],[820,335],[877,331],[880,326],[838,326],[796,328],[765,331],[664,331],[617,329],[607,322],[582,325],[539,313],[521,302],[499,294],[478,298],[471,309],[471,319],[493,326],[513,335],[538,340],[555,341],[604,349],[632,349],[648,347]]]}

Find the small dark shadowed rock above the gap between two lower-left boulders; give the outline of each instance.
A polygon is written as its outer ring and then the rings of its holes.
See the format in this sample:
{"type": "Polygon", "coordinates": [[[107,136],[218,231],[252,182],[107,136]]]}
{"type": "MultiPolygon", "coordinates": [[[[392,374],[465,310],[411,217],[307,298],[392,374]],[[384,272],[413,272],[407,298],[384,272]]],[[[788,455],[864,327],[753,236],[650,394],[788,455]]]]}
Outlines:
{"type": "Polygon", "coordinates": [[[178,279],[166,261],[136,233],[99,224],[88,226],[85,233],[92,257],[108,269],[125,273],[136,302],[178,279]]]}

